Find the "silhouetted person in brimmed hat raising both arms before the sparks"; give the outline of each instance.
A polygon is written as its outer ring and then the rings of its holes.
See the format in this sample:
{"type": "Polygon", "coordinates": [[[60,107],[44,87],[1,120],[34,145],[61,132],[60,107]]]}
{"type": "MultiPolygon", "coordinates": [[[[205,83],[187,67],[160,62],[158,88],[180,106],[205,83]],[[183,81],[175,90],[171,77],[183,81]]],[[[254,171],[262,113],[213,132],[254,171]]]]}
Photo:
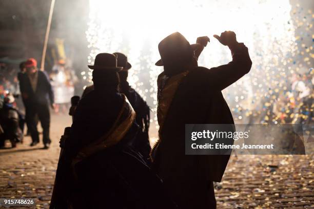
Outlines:
{"type": "Polygon", "coordinates": [[[159,142],[153,166],[180,208],[215,208],[213,181],[221,181],[229,155],[185,155],[185,124],[233,124],[223,89],[249,72],[248,49],[235,33],[214,35],[231,50],[227,65],[198,67],[196,45],[176,32],[158,45],[164,72],[158,76],[159,142]]]}

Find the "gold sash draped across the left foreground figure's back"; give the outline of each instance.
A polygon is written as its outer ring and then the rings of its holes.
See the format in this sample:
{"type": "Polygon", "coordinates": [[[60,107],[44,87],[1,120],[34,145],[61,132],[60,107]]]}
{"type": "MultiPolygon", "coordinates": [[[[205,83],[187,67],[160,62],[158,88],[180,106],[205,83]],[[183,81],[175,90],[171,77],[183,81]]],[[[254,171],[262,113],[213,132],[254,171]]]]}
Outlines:
{"type": "Polygon", "coordinates": [[[73,170],[75,164],[82,161],[86,157],[117,144],[119,141],[123,139],[125,134],[130,129],[135,119],[135,111],[133,110],[126,96],[124,94],[122,95],[124,98],[124,104],[122,106],[121,111],[119,112],[119,115],[114,121],[113,126],[104,136],[97,139],[95,142],[89,144],[87,147],[82,148],[81,151],[77,153],[76,157],[74,157],[74,159],[72,160],[73,170]],[[122,118],[122,116],[124,115],[123,113],[127,114],[127,117],[125,119],[122,118]]]}

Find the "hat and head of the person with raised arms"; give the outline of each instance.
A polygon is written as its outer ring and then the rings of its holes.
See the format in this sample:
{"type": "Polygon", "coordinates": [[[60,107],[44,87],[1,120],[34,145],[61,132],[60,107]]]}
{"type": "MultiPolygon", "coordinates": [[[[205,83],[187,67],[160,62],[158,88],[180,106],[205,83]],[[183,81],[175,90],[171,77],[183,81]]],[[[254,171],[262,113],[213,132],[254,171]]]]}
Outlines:
{"type": "Polygon", "coordinates": [[[194,65],[194,50],[199,45],[190,45],[189,41],[179,32],[172,33],[160,41],[158,50],[161,59],[156,66],[164,66],[165,75],[181,73],[194,65]]]}

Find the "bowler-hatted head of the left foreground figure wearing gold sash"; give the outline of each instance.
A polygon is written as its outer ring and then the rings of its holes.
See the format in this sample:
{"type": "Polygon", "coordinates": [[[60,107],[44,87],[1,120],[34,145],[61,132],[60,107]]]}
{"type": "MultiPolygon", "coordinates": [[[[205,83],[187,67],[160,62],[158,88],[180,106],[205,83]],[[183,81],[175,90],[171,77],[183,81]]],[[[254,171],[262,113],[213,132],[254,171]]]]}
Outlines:
{"type": "Polygon", "coordinates": [[[88,67],[93,69],[92,80],[95,90],[118,89],[120,79],[117,72],[121,71],[122,67],[117,66],[117,60],[114,54],[97,54],[94,65],[88,67]]]}

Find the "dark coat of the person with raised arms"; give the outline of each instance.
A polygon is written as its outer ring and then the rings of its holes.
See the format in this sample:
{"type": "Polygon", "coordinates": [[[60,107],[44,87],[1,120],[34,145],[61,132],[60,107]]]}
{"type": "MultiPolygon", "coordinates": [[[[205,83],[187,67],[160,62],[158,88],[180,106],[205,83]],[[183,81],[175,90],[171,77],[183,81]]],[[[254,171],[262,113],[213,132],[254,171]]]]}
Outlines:
{"type": "Polygon", "coordinates": [[[239,44],[227,65],[195,67],[183,78],[169,107],[154,165],[162,179],[221,181],[229,155],[185,155],[185,124],[233,124],[221,91],[249,72],[247,48],[239,44]]]}

